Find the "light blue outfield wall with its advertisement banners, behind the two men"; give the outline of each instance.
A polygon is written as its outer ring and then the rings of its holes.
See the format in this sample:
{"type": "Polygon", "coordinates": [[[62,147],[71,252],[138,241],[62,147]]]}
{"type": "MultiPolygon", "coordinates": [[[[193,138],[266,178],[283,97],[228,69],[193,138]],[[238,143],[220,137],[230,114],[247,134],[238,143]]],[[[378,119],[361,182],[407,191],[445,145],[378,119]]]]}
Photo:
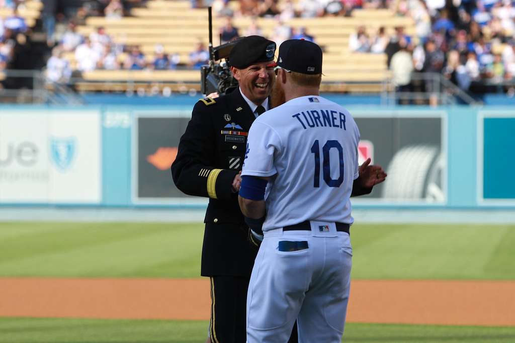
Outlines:
{"type": "MultiPolygon", "coordinates": [[[[389,173],[389,184],[385,183],[382,188],[378,187],[371,196],[354,200],[355,208],[515,210],[515,183],[511,177],[515,170],[515,109],[510,106],[456,106],[437,109],[421,106],[384,107],[376,104],[346,106],[356,118],[362,133],[362,157],[373,156],[374,163],[381,164],[389,173]],[[422,155],[427,158],[422,158],[422,155]],[[405,176],[398,177],[400,173],[408,176],[418,175],[421,173],[422,165],[429,166],[424,171],[424,177],[417,176],[413,181],[408,181],[405,176]],[[412,168],[413,172],[406,172],[406,168],[412,168]],[[396,184],[396,177],[401,182],[405,180],[405,184],[396,184]],[[413,182],[413,187],[410,182],[413,182]],[[399,191],[401,188],[402,192],[399,191]],[[420,188],[420,192],[412,192],[411,188],[420,188]]],[[[188,103],[166,106],[86,105],[64,108],[0,106],[0,205],[205,207],[205,199],[182,197],[178,195],[177,190],[171,189],[173,183],[169,169],[160,164],[164,152],[168,156],[176,148],[180,134],[191,115],[191,109],[192,106],[188,103]],[[49,160],[45,161],[44,165],[37,165],[36,155],[30,155],[32,150],[26,148],[34,134],[12,134],[24,130],[24,127],[20,126],[21,122],[15,119],[16,116],[28,112],[29,121],[23,121],[25,127],[38,115],[52,116],[56,112],[70,115],[88,113],[92,117],[97,116],[100,151],[88,151],[89,146],[96,145],[83,137],[96,136],[95,133],[90,133],[91,129],[82,132],[80,123],[74,124],[76,127],[70,133],[71,136],[75,135],[73,132],[81,135],[82,140],[75,140],[75,143],[70,143],[73,139],[59,141],[59,137],[66,136],[65,128],[61,131],[48,129],[48,137],[58,143],[46,147],[48,152],[45,157],[43,150],[46,148],[43,146],[47,144],[46,136],[33,142],[37,147],[33,151],[40,154],[37,156],[38,163],[43,163],[45,159],[49,160]],[[152,137],[151,131],[148,131],[152,125],[159,125],[158,121],[151,121],[156,118],[175,120],[173,128],[161,131],[170,132],[169,143],[163,143],[163,137],[152,137]],[[153,141],[156,141],[154,146],[153,141]],[[16,147],[22,148],[16,150],[16,147]],[[145,149],[147,152],[141,153],[145,149]],[[19,166],[14,165],[14,159],[11,160],[16,151],[19,156],[25,156],[25,160],[20,159],[19,166]],[[85,152],[88,152],[86,157],[94,161],[94,155],[99,155],[101,173],[95,177],[99,177],[100,188],[96,193],[91,191],[84,195],[84,201],[81,201],[80,194],[77,194],[81,189],[80,180],[85,182],[90,172],[85,172],[84,168],[73,168],[79,166],[74,158],[78,161],[82,158],[81,163],[84,166],[89,165],[89,160],[82,156],[85,152]],[[27,179],[26,183],[22,183],[21,180],[24,175],[28,175],[26,172],[22,173],[22,170],[26,170],[23,168],[27,167],[29,162],[39,166],[42,171],[48,171],[48,182],[53,183],[47,185],[39,197],[31,197],[30,194],[33,183],[38,180],[27,179]],[[75,178],[67,173],[72,173],[75,178]],[[60,177],[66,178],[68,186],[61,185],[60,177]],[[151,181],[160,180],[160,177],[164,177],[163,180],[167,184],[158,184],[157,188],[152,186],[151,181]],[[12,186],[13,182],[20,183],[18,188],[26,188],[22,191],[26,195],[14,191],[9,193],[6,190],[8,187],[2,189],[2,185],[11,183],[12,186]],[[74,192],[62,189],[70,188],[71,184],[75,184],[74,192]]],[[[59,126],[59,118],[52,119],[48,127],[59,126]]],[[[83,116],[80,118],[84,120],[83,116]]],[[[84,184],[96,185],[95,182],[84,184]]]]}

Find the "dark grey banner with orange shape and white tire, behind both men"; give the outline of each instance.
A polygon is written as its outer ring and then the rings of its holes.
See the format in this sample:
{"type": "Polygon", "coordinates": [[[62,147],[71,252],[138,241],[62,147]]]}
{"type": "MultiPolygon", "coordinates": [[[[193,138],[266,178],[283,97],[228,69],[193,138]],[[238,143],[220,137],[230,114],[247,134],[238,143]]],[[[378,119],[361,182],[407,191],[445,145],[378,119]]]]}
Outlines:
{"type": "MultiPolygon", "coordinates": [[[[352,112],[361,133],[359,164],[367,158],[381,165],[388,177],[371,194],[356,202],[427,204],[447,201],[445,113],[426,115],[352,112]]],[[[187,114],[187,116],[186,116],[187,114]]],[[[135,118],[134,201],[152,204],[200,202],[183,194],[171,178],[170,166],[186,129],[185,115],[141,115],[135,118]]]]}

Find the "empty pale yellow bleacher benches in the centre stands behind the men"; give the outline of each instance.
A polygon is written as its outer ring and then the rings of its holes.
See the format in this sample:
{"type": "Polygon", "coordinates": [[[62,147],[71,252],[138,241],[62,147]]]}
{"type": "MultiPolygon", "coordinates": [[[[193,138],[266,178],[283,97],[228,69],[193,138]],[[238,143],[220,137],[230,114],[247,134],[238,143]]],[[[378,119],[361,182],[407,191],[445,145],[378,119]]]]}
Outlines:
{"type": "MultiPolygon", "coordinates": [[[[237,2],[233,2],[237,4],[237,2]]],[[[187,1],[150,0],[146,8],[134,8],[131,17],[114,20],[106,17],[89,17],[86,25],[79,26],[78,32],[89,35],[99,26],[104,26],[118,44],[138,45],[151,61],[156,44],[162,44],[166,53],[177,53],[181,63],[187,64],[188,55],[200,40],[208,43],[208,11],[207,9],[192,9],[187,1]]],[[[247,17],[234,19],[234,26],[243,34],[251,19],[247,17]]],[[[218,28],[223,25],[223,19],[214,19],[214,45],[218,45],[218,28]]],[[[408,34],[415,31],[414,22],[410,17],[395,16],[390,10],[362,9],[354,10],[352,17],[321,17],[315,19],[294,18],[287,22],[293,28],[306,27],[314,35],[316,42],[324,48],[324,84],[331,89],[345,89],[345,92],[379,92],[382,81],[388,76],[386,56],[384,54],[353,53],[349,51],[349,36],[356,27],[367,23],[369,30],[380,26],[387,33],[393,32],[396,26],[404,26],[408,34]],[[355,87],[354,87],[355,84],[355,87]],[[363,87],[363,84],[368,86],[363,87]]],[[[263,33],[270,37],[277,21],[259,19],[258,24],[263,33]]],[[[370,32],[373,33],[373,32],[370,32]]],[[[73,53],[66,57],[75,65],[73,53]]],[[[123,59],[124,55],[120,58],[123,59]]],[[[86,84],[78,88],[104,90],[100,81],[160,81],[188,83],[188,87],[198,88],[200,73],[198,70],[169,70],[169,71],[127,71],[127,70],[95,70],[84,74],[86,84]],[[100,89],[101,88],[101,89],[100,89]]]]}

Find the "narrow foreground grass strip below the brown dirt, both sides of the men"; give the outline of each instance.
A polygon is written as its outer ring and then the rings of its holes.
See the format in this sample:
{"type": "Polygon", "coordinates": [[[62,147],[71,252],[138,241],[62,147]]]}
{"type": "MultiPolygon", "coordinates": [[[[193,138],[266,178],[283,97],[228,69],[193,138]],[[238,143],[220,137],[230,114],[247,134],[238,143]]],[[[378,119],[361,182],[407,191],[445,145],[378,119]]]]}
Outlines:
{"type": "MultiPolygon", "coordinates": [[[[198,343],[208,321],[0,318],[0,343],[198,343]]],[[[515,327],[346,324],[345,343],[494,343],[515,341],[515,327]]]]}

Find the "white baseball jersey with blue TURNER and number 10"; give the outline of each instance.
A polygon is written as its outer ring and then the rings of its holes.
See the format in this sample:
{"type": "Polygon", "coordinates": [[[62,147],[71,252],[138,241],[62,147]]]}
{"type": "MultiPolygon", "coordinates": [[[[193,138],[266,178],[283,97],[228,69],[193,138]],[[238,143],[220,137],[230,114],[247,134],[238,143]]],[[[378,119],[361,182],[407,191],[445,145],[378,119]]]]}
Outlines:
{"type": "Polygon", "coordinates": [[[295,98],[259,116],[242,175],[271,177],[263,231],[306,220],[352,224],[358,142],[350,113],[320,96],[295,98]]]}

